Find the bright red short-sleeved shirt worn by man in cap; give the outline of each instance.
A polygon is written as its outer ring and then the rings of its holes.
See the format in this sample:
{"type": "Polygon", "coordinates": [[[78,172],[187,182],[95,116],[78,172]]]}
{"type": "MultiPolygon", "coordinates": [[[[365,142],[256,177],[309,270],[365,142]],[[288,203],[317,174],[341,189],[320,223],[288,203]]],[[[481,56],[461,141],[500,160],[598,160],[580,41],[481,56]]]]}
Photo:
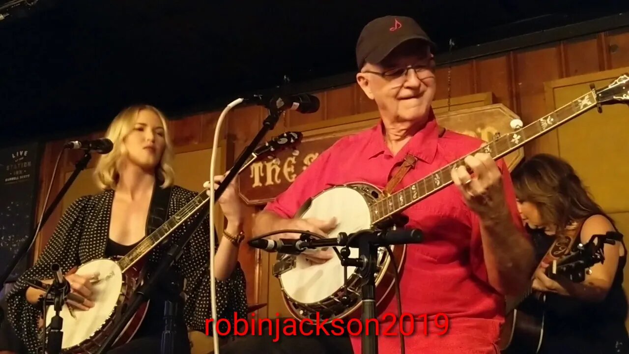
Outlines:
{"type": "MultiPolygon", "coordinates": [[[[292,185],[265,210],[282,217],[294,217],[309,197],[354,181],[365,181],[381,189],[397,172],[406,154],[418,158],[395,190],[415,183],[447,164],[478,149],[482,141],[446,130],[440,136],[434,116],[425,128],[393,156],[384,142],[382,123],[355,135],[343,137],[319,157],[292,185]]],[[[504,161],[504,190],[513,220],[521,227],[515,193],[504,161]]],[[[402,312],[416,316],[428,314],[428,336],[423,322],[415,323],[415,334],[405,337],[407,353],[498,353],[494,343],[504,321],[504,297],[488,281],[483,258],[479,219],[463,200],[456,186],[450,185],[406,209],[407,227],[420,229],[421,244],[409,244],[400,280],[402,312]],[[443,312],[449,323],[446,334],[431,319],[443,312]]],[[[519,237],[514,235],[514,237],[519,237]]],[[[376,299],[378,300],[378,299],[376,299]]],[[[397,302],[391,297],[385,313],[395,314],[397,302]]],[[[382,317],[381,317],[382,318],[382,317]]],[[[387,316],[390,320],[391,315],[387,316]]],[[[419,320],[422,321],[422,320],[419,320]]],[[[380,330],[390,324],[381,325],[380,330]]],[[[399,329],[395,329],[397,333],[399,329]]],[[[379,352],[400,352],[398,336],[378,336],[379,352]]],[[[360,336],[352,337],[355,353],[360,353],[360,336]]]]}

